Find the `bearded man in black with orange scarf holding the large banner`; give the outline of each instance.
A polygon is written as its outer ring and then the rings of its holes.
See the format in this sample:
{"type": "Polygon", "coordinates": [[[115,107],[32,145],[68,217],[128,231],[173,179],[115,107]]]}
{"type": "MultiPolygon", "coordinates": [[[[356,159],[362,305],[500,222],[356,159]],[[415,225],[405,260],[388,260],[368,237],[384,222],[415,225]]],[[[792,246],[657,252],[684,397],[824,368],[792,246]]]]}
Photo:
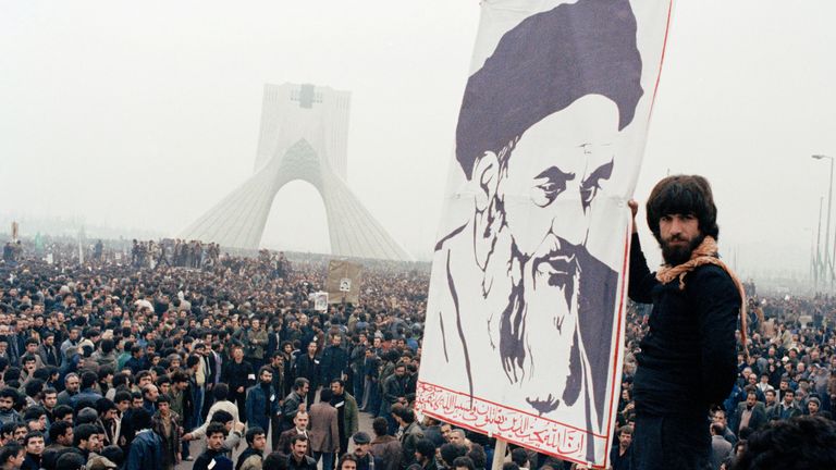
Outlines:
{"type": "Polygon", "coordinates": [[[651,273],[632,211],[629,296],[653,304],[634,380],[634,470],[710,466],[708,415],[735,381],[738,314],[746,322],[741,283],[717,257],[717,209],[702,176],[669,176],[656,184],[647,219],[665,264],[651,273]]]}

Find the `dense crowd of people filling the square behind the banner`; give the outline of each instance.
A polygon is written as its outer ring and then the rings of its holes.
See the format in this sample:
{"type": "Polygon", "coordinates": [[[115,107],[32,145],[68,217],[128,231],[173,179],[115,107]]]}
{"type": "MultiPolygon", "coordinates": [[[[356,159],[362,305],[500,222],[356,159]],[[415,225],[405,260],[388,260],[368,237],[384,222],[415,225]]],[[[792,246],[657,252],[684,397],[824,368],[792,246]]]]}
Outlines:
{"type": "MultiPolygon", "coordinates": [[[[490,466],[493,440],[411,407],[428,265],[367,261],[360,302],[320,311],[309,296],[324,283],[324,257],[134,247],[122,262],[98,246],[83,265],[70,253],[47,262],[25,250],[0,264],[4,469],[490,466]],[[371,416],[371,430],[360,430],[360,413],[371,416]],[[190,455],[193,441],[205,450],[190,455]]],[[[832,422],[834,310],[832,297],[750,300],[738,382],[706,423],[714,468],[730,469],[749,442],[765,445],[758,430],[778,435],[771,422],[832,422]]],[[[629,468],[632,373],[647,320],[631,304],[615,470],[629,468]]],[[[505,460],[507,470],[585,468],[513,446],[505,460]]]]}

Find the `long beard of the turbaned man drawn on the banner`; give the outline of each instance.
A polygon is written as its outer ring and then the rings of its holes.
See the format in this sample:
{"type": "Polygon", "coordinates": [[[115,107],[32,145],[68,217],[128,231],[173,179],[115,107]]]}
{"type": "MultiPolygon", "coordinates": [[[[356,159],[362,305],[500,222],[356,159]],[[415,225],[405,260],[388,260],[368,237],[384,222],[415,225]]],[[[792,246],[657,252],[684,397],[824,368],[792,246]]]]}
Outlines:
{"type": "MultiPolygon", "coordinates": [[[[497,238],[496,247],[503,249],[492,253],[487,274],[493,274],[493,280],[504,277],[505,283],[492,283],[492,292],[485,295],[489,304],[497,306],[491,310],[499,313],[489,324],[491,341],[499,346],[503,370],[513,384],[540,388],[539,384],[552,381],[550,374],[567,378],[560,389],[531,389],[529,404],[540,413],[549,412],[561,401],[577,398],[568,379],[569,362],[580,364],[579,358],[569,357],[577,350],[578,251],[583,247],[550,234],[536,252],[525,255],[506,231],[497,238]],[[549,346],[555,344],[563,347],[549,346]],[[555,355],[566,362],[555,363],[555,355]],[[566,388],[573,392],[565,394],[566,388]]],[[[576,375],[579,380],[580,374],[576,375]]]]}

